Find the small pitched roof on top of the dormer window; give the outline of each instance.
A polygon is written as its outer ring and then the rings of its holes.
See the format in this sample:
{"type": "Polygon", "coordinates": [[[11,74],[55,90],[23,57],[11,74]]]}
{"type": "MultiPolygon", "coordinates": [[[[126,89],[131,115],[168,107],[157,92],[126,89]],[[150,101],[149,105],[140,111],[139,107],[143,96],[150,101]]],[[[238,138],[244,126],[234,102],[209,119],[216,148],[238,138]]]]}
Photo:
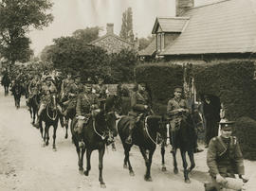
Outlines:
{"type": "Polygon", "coordinates": [[[181,32],[188,17],[156,17],[152,34],[157,33],[160,27],[162,32],[181,32]]]}

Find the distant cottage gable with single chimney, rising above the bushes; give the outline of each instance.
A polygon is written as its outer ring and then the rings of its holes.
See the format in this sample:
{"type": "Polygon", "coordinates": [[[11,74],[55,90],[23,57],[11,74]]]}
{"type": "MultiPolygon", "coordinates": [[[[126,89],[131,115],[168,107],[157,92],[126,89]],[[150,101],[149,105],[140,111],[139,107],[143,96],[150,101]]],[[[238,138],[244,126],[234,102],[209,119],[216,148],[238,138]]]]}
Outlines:
{"type": "Polygon", "coordinates": [[[121,49],[137,50],[137,41],[131,43],[114,34],[114,24],[107,24],[106,30],[107,32],[104,36],[90,44],[102,47],[108,54],[119,53],[121,49]]]}

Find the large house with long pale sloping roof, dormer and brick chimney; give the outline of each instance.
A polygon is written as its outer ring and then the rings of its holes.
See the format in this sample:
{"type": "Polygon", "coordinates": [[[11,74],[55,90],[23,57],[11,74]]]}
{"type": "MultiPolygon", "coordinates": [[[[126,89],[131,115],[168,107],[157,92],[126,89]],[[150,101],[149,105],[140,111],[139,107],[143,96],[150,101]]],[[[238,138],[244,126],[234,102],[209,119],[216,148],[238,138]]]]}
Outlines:
{"type": "Polygon", "coordinates": [[[193,0],[176,0],[175,17],[157,17],[152,30],[155,41],[140,51],[139,57],[177,63],[255,58],[254,0],[193,5],[193,0]]]}

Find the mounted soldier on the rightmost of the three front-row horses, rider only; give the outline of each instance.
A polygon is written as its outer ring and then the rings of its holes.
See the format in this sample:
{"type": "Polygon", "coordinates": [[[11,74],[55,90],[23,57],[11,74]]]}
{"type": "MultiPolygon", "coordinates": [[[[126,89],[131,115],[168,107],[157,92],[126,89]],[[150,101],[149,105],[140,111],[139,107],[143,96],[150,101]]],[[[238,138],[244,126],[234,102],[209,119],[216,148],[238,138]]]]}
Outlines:
{"type": "Polygon", "coordinates": [[[180,122],[182,120],[183,113],[189,113],[188,105],[185,99],[181,97],[182,88],[176,87],[174,89],[174,98],[168,101],[167,115],[170,117],[171,135],[172,135],[172,150],[174,152],[176,140],[175,131],[178,130],[180,122]]]}

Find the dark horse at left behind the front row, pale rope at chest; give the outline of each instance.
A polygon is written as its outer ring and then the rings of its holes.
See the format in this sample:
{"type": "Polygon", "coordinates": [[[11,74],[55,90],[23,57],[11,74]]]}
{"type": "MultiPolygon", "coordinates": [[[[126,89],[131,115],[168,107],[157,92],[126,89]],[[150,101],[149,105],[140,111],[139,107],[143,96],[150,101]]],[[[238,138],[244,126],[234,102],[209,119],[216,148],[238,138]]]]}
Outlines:
{"type": "Polygon", "coordinates": [[[42,138],[44,140],[44,147],[48,146],[49,143],[49,128],[50,126],[53,126],[53,143],[52,143],[52,148],[56,151],[56,145],[55,145],[55,140],[56,140],[56,131],[58,128],[58,122],[60,118],[60,113],[57,110],[57,104],[56,104],[56,97],[51,96],[51,102],[46,105],[46,109],[41,113],[42,117],[41,120],[39,121],[39,129],[42,135],[42,138]],[[45,122],[45,134],[44,134],[44,129],[42,125],[42,121],[45,122]]]}

